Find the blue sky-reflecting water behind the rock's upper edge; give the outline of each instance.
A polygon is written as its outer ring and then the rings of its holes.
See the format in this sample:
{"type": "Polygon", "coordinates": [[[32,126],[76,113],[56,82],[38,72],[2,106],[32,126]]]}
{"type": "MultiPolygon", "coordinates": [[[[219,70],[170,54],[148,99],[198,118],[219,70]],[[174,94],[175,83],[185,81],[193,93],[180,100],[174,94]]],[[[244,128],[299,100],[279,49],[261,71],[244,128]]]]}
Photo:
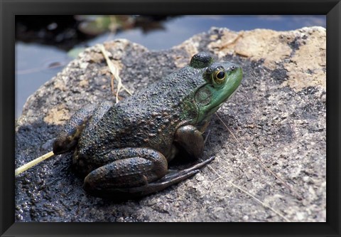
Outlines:
{"type": "MultiPolygon", "coordinates": [[[[289,31],[305,26],[326,27],[325,16],[179,16],[162,23],[156,31],[146,33],[141,28],[131,28],[116,35],[103,33],[82,41],[77,47],[93,46],[96,43],[127,38],[150,50],[176,46],[191,36],[208,31],[212,26],[226,27],[232,31],[247,31],[254,28],[269,28],[289,31]]],[[[39,41],[38,41],[39,42],[39,41]]],[[[58,44],[42,45],[37,42],[16,41],[16,118],[29,95],[43,83],[55,76],[72,58],[58,44]]]]}

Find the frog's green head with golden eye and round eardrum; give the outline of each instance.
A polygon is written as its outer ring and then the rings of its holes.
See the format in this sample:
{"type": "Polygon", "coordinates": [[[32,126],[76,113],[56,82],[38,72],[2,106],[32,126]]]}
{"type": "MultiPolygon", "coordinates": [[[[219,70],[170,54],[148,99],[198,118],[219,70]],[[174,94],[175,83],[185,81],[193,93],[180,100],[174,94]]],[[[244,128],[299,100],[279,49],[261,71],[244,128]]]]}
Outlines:
{"type": "MultiPolygon", "coordinates": [[[[242,68],[239,65],[230,62],[215,63],[212,57],[208,57],[207,54],[204,56],[205,62],[202,57],[199,58],[200,60],[194,60],[196,63],[201,61],[202,65],[206,65],[200,72],[205,83],[195,91],[195,103],[199,112],[197,122],[215,113],[222,103],[231,98],[242,83],[242,68]]],[[[195,57],[198,58],[198,56],[195,57]]],[[[191,64],[196,65],[192,61],[191,64]]]]}

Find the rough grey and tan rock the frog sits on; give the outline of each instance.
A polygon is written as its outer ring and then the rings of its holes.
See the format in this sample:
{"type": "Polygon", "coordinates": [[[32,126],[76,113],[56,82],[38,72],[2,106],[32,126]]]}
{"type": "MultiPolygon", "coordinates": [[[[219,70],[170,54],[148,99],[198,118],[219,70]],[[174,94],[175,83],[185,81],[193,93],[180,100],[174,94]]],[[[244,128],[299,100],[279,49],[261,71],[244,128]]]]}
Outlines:
{"type": "MultiPolygon", "coordinates": [[[[217,112],[227,127],[215,116],[208,128],[204,157],[216,159],[196,178],[114,203],[86,194],[72,154],[59,155],[16,178],[16,221],[326,221],[325,37],[321,27],[211,28],[166,51],[104,43],[132,92],[199,51],[242,65],[242,86],[217,112]]],[[[80,107],[114,101],[111,79],[94,46],[31,95],[16,122],[16,167],[49,152],[80,107]]]]}

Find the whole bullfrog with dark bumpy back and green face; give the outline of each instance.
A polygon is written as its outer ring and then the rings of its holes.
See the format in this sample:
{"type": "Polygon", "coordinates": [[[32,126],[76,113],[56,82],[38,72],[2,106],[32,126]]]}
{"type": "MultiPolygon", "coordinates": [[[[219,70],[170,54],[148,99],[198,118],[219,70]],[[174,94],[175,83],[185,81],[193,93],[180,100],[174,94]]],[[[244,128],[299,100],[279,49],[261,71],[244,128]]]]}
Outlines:
{"type": "Polygon", "coordinates": [[[214,159],[168,169],[180,151],[201,158],[202,133],[241,81],[239,65],[197,53],[189,65],[117,104],[104,101],[75,112],[53,152],[74,150],[73,167],[91,195],[121,199],[161,191],[214,159]]]}

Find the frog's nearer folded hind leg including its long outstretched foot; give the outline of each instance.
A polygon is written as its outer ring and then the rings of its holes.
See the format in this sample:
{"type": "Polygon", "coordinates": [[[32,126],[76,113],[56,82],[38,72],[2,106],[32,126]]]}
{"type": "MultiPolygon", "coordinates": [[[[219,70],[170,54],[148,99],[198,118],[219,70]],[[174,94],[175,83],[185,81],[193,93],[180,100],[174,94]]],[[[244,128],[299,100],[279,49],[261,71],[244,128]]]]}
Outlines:
{"type": "Polygon", "coordinates": [[[129,199],[152,194],[199,172],[214,157],[183,170],[168,171],[166,158],[148,148],[116,149],[107,154],[113,162],[94,169],[85,177],[84,189],[94,196],[129,199]],[[121,159],[117,159],[120,156],[121,159]]]}

